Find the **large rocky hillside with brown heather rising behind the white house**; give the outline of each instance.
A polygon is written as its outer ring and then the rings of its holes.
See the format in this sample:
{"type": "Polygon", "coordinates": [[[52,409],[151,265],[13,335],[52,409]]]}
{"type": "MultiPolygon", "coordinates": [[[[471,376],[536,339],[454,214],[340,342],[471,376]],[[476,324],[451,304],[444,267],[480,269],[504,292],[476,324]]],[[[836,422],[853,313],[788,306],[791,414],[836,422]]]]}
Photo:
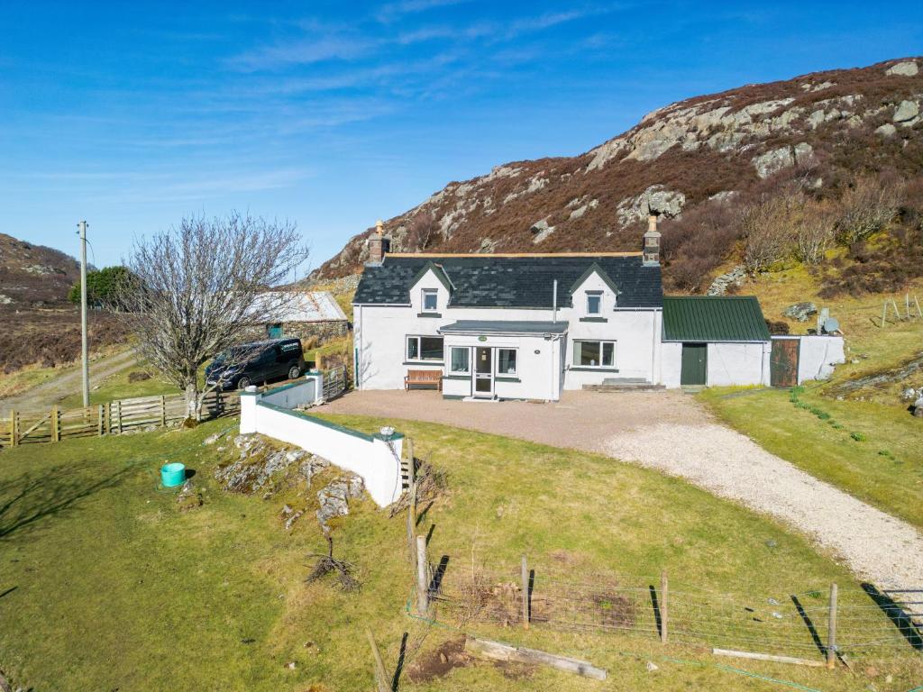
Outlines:
{"type": "MultiPolygon", "coordinates": [[[[910,181],[918,194],[921,107],[921,58],[747,85],[672,103],[580,156],[450,183],[385,230],[395,252],[629,250],[653,210],[668,286],[701,291],[740,254],[740,213],[754,200],[797,185],[822,205],[857,176],[910,181]]],[[[358,271],[370,233],[313,278],[358,271]]]]}

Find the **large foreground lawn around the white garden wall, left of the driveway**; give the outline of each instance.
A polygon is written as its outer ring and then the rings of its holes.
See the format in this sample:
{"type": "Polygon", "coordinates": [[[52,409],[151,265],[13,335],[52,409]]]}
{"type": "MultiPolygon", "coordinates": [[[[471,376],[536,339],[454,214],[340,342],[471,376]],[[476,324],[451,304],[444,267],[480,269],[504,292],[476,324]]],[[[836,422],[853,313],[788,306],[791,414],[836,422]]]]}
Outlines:
{"type": "MultiPolygon", "coordinates": [[[[366,432],[383,423],[332,419],[366,432]]],[[[361,591],[306,584],[306,555],[326,551],[312,516],[320,484],[307,495],[290,489],[269,499],[224,493],[212,477],[219,452],[200,443],[235,426],[222,420],[0,453],[0,669],[14,686],[371,689],[366,626],[389,670],[404,633],[408,666],[455,636],[404,613],[411,585],[404,519],[389,519],[370,501],[351,506],[334,530],[335,555],[354,563],[361,591]],[[159,492],[156,471],[165,459],[197,471],[203,507],[181,513],[172,493],[159,492]],[[280,519],[286,502],[307,509],[291,533],[280,519]]],[[[680,480],[445,426],[403,424],[402,431],[414,437],[418,457],[448,473],[448,491],[426,512],[421,532],[432,527],[431,555],[450,555],[450,570],[488,559],[515,567],[521,553],[541,568],[566,551],[575,579],[598,570],[650,579],[666,568],[676,590],[691,585],[764,598],[825,588],[831,580],[855,588],[843,567],[800,536],[680,480]]],[[[405,676],[400,688],[775,688],[716,662],[815,690],[871,682],[861,670],[717,660],[701,648],[661,647],[641,635],[541,627],[482,633],[585,657],[608,668],[609,679],[545,669],[519,677],[478,664],[428,682],[405,676]],[[659,670],[649,673],[647,661],[659,670]]],[[[923,679],[911,654],[876,665],[878,690],[905,692],[923,679]],[[885,682],[886,674],[893,680],[885,682]]]]}

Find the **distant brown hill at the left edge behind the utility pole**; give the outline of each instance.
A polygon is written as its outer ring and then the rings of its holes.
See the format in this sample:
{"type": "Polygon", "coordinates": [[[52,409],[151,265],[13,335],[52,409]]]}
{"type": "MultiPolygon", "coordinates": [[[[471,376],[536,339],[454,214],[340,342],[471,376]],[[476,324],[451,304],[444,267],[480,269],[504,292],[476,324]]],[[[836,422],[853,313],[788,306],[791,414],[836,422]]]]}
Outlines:
{"type": "Polygon", "coordinates": [[[80,265],[73,257],[0,233],[0,307],[63,305],[79,279],[80,265]]]}

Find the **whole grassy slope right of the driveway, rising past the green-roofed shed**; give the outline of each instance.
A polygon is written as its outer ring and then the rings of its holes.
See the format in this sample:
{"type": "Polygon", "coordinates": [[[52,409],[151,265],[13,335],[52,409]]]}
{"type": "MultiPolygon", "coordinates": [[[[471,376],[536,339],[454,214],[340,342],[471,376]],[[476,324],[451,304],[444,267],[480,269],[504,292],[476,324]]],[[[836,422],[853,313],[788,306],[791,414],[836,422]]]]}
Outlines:
{"type": "MultiPolygon", "coordinates": [[[[916,292],[923,297],[921,283],[908,290],[911,296],[916,292]]],[[[817,281],[804,268],[796,267],[765,275],[742,292],[756,293],[770,319],[782,318],[782,310],[797,301],[812,300],[831,307],[845,332],[847,363],[837,366],[831,382],[809,384],[802,400],[830,413],[833,421],[843,425],[842,430],[796,409],[787,391],[727,396],[733,390],[713,389],[702,392],[701,399],[726,423],[773,454],[923,528],[923,426],[899,400],[902,386],[865,388],[850,400],[824,396],[837,382],[893,368],[923,351],[923,320],[888,323],[881,328],[885,296],[824,300],[817,291],[817,281]],[[854,400],[858,397],[864,400],[854,400]],[[849,436],[853,432],[868,439],[856,442],[849,436]]],[[[810,322],[790,325],[793,333],[813,327],[810,322]]],[[[913,384],[923,385],[923,380],[913,384]]]]}

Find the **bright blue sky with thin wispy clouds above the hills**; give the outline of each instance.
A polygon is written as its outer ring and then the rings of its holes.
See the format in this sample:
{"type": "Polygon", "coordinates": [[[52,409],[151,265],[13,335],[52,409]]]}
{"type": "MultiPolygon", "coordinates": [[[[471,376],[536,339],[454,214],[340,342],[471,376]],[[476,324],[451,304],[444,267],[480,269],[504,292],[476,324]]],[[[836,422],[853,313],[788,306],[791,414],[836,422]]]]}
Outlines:
{"type": "Polygon", "coordinates": [[[0,232],[96,264],[191,213],[296,221],[318,266],[450,180],[670,101],[923,54],[923,4],[0,4],[0,232]]]}

